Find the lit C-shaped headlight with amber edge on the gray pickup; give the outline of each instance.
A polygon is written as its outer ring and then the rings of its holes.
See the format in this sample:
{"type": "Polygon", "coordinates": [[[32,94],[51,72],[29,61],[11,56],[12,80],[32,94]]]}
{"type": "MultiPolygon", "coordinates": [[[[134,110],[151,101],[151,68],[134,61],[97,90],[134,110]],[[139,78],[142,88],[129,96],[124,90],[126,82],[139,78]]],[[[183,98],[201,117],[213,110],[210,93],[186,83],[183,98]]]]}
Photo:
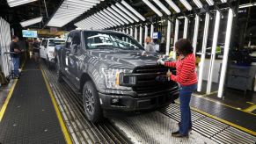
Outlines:
{"type": "Polygon", "coordinates": [[[120,73],[132,73],[131,69],[115,69],[115,68],[102,68],[102,72],[106,78],[106,88],[132,90],[131,87],[120,86],[120,73]]]}

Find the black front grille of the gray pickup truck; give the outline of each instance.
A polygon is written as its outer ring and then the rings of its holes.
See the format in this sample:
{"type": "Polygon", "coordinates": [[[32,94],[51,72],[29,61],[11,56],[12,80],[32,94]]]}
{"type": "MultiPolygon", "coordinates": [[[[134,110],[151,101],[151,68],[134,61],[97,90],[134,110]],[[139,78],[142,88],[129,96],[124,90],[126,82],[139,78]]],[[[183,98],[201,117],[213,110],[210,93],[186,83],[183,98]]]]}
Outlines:
{"type": "MultiPolygon", "coordinates": [[[[174,68],[170,68],[172,73],[175,73],[174,68]]],[[[136,85],[133,90],[137,93],[138,97],[150,97],[157,95],[168,95],[174,88],[178,90],[178,84],[172,81],[169,82],[157,82],[156,77],[165,75],[168,68],[164,66],[144,66],[137,67],[133,73],[138,74],[136,76],[136,85]]]]}

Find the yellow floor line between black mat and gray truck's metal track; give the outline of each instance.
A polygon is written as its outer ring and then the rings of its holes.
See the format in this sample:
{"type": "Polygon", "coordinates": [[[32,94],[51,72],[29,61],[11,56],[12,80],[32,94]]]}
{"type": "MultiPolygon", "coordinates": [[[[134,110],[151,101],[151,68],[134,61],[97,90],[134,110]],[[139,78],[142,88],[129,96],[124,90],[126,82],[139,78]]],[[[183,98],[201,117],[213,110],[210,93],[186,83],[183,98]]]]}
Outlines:
{"type": "Polygon", "coordinates": [[[59,119],[59,122],[60,122],[60,125],[62,127],[62,133],[64,134],[64,137],[65,137],[65,140],[68,144],[71,144],[72,143],[72,140],[70,138],[70,135],[69,135],[69,132],[68,132],[68,129],[67,127],[65,126],[65,123],[64,123],[64,120],[62,119],[62,114],[58,108],[58,105],[55,101],[55,97],[54,97],[54,94],[53,94],[53,91],[51,90],[50,88],[50,85],[48,83],[48,80],[46,78],[46,75],[45,75],[45,72],[42,70],[42,68],[40,67],[40,70],[41,70],[41,73],[42,73],[42,76],[44,77],[44,81],[47,85],[47,88],[48,88],[48,92],[49,92],[49,95],[51,97],[51,100],[52,100],[52,103],[54,104],[54,107],[55,107],[55,112],[56,112],[56,115],[57,115],[57,118],[59,119]]]}

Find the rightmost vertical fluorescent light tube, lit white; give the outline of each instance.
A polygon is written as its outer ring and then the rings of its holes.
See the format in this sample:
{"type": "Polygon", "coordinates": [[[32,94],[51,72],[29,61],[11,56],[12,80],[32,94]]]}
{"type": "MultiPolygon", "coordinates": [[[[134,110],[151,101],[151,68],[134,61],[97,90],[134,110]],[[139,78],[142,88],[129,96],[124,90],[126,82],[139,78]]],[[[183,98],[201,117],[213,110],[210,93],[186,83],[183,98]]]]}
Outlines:
{"type": "Polygon", "coordinates": [[[217,95],[218,97],[223,97],[223,86],[224,86],[224,81],[226,77],[228,57],[229,57],[229,51],[230,51],[230,37],[231,37],[232,23],[233,23],[233,11],[232,9],[229,9],[224,54],[223,54],[223,65],[222,65],[219,90],[217,95]]]}

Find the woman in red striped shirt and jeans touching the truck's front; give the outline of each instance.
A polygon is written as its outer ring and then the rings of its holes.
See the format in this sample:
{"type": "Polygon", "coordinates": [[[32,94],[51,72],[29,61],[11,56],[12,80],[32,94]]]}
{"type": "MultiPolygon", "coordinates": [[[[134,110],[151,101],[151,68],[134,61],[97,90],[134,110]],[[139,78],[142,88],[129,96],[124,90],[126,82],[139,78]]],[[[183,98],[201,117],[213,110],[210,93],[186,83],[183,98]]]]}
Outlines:
{"type": "Polygon", "coordinates": [[[180,84],[179,101],[181,121],[179,122],[179,131],[172,133],[174,137],[187,137],[188,131],[192,128],[191,112],[190,112],[190,98],[197,87],[197,75],[195,71],[195,57],[193,54],[193,47],[189,40],[180,39],[175,43],[175,48],[179,54],[177,61],[161,61],[158,63],[166,67],[176,68],[176,76],[172,73],[167,73],[172,81],[180,84]]]}

